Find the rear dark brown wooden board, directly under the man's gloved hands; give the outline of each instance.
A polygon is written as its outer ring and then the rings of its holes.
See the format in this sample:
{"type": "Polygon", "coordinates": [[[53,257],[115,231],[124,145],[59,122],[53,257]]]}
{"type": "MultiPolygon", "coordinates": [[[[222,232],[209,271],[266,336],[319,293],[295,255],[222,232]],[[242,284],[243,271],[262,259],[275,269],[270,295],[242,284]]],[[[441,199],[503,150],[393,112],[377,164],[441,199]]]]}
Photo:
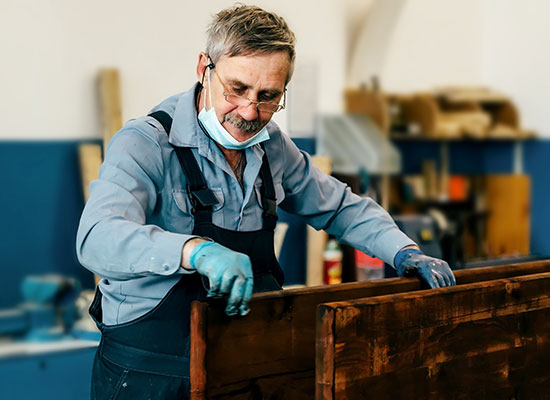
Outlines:
{"type": "MultiPolygon", "coordinates": [[[[455,271],[458,284],[539,272],[550,261],[455,271]]],[[[255,294],[243,318],[224,314],[223,301],[195,302],[204,328],[191,330],[193,367],[204,368],[205,383],[194,383],[211,399],[313,398],[315,392],[315,310],[318,304],[424,289],[418,279],[393,278],[255,294]],[[206,310],[206,311],[204,311],[206,310]],[[206,344],[205,350],[195,351],[206,344]],[[196,346],[196,344],[199,344],[196,346]]],[[[196,322],[193,322],[196,323],[196,322]]],[[[204,397],[196,397],[204,398],[204,397]]]]}

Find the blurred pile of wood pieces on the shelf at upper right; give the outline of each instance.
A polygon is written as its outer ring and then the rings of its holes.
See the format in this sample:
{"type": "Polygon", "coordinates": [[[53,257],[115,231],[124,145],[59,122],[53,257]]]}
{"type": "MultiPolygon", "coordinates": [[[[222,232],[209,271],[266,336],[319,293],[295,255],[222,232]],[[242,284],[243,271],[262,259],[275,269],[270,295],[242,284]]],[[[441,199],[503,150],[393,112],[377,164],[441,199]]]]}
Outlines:
{"type": "Polygon", "coordinates": [[[512,100],[483,87],[445,87],[413,94],[368,88],[345,91],[346,112],[370,116],[384,132],[397,125],[434,139],[516,139],[533,132],[520,126],[512,100]]]}

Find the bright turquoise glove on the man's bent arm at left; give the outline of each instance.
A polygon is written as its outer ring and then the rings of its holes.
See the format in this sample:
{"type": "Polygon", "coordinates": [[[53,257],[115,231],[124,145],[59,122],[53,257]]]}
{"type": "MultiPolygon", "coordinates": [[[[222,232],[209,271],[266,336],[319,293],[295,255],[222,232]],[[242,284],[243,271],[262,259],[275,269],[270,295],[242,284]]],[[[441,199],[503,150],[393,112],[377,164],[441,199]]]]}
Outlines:
{"type": "Polygon", "coordinates": [[[191,252],[189,265],[210,280],[208,297],[229,296],[225,308],[227,315],[248,314],[254,276],[246,254],[216,242],[201,242],[191,252]]]}

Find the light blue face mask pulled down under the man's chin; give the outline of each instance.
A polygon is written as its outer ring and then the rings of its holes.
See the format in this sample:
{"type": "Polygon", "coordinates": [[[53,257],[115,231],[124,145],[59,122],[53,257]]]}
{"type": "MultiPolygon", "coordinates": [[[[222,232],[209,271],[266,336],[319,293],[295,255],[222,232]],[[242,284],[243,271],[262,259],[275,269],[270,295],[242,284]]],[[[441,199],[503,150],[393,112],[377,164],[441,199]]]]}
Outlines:
{"type": "MultiPolygon", "coordinates": [[[[208,71],[208,97],[212,99],[212,91],[210,90],[210,71],[208,71]]],[[[211,106],[208,111],[206,110],[206,96],[204,97],[204,107],[199,113],[199,121],[202,123],[204,129],[206,129],[206,132],[208,132],[208,136],[226,149],[246,149],[269,139],[269,133],[264,126],[250,139],[247,139],[244,142],[239,142],[231,136],[231,134],[227,132],[227,130],[220,123],[218,116],[216,115],[216,110],[214,110],[213,106],[211,106]]]]}

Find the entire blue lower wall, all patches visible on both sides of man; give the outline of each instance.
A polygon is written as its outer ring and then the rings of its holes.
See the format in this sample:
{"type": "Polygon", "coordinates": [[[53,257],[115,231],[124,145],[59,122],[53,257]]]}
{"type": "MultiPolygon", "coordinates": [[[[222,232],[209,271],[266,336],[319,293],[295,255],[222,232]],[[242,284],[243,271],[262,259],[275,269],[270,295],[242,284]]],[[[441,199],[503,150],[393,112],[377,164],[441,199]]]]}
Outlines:
{"type": "MultiPolygon", "coordinates": [[[[313,139],[295,139],[314,153],[313,139]]],[[[93,287],[93,276],[77,261],[76,229],[84,206],[78,169],[80,141],[0,141],[0,308],[21,301],[19,286],[28,274],[57,272],[93,287]]],[[[424,158],[439,160],[440,144],[397,141],[403,171],[418,173],[424,158]]],[[[510,141],[451,142],[450,169],[457,174],[511,173],[514,143],[510,141]]],[[[531,251],[550,254],[547,227],[550,210],[550,140],[523,143],[524,169],[532,179],[531,251]]],[[[290,222],[281,253],[287,283],[305,279],[305,225],[284,212],[290,222]]]]}

